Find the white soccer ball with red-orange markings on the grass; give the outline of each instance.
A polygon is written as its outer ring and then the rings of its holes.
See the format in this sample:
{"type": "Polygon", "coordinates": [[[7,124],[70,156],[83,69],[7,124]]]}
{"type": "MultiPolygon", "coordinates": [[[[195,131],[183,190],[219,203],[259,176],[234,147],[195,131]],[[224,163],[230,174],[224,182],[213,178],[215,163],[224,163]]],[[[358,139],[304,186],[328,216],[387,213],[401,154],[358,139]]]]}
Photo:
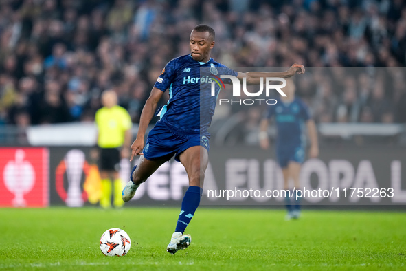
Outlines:
{"type": "Polygon", "coordinates": [[[106,256],[124,256],[130,248],[130,237],[120,228],[106,230],[100,238],[100,250],[106,256]]]}

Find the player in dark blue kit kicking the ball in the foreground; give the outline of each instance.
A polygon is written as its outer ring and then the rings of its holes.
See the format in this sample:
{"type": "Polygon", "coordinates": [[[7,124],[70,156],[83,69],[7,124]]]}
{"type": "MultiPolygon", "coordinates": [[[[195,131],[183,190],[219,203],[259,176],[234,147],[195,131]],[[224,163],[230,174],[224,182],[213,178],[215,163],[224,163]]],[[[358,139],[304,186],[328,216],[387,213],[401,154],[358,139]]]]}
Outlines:
{"type": "Polygon", "coordinates": [[[167,248],[171,254],[190,245],[190,235],[183,232],[199,206],[208,164],[210,134],[207,128],[216,107],[216,96],[206,97],[207,104],[201,104],[201,85],[204,85],[201,67],[207,67],[213,74],[221,71],[221,74],[236,76],[240,81],[245,77],[247,84],[250,85],[259,84],[261,76],[289,78],[294,74],[304,73],[304,67],[298,64],[292,65],[286,72],[234,72],[210,58],[214,36],[213,28],[208,25],[197,25],[192,30],[189,41],[191,53],[172,59],[157,78],[142,109],[137,138],[131,145],[130,160],[133,160],[135,155],[143,156],[139,159],[138,165],[134,166],[131,180],[124,187],[122,192],[124,202],[128,202],[135,195],[139,185],[173,156],[183,164],[188,174],[189,188],[183,197],[177,226],[167,248]],[[170,99],[161,109],[161,119],[148,134],[144,145],[146,129],[166,89],[169,89],[170,99]]]}

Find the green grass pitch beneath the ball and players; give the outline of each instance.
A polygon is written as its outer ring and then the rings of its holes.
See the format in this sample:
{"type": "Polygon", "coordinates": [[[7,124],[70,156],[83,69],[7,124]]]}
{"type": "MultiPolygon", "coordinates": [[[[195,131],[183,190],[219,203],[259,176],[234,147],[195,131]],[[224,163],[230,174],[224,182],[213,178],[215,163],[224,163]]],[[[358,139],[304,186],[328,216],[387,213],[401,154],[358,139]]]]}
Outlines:
{"type": "Polygon", "coordinates": [[[192,244],[166,246],[179,208],[0,209],[0,270],[402,270],[406,215],[390,212],[204,208],[187,233],[192,244]],[[105,257],[102,233],[131,237],[124,257],[105,257]]]}

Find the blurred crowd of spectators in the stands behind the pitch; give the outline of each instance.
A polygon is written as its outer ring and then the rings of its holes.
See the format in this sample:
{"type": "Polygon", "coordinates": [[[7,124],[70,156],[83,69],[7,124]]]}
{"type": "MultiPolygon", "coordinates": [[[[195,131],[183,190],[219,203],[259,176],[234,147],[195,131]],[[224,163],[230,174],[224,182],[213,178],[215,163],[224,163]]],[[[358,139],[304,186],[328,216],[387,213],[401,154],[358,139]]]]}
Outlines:
{"type": "Polygon", "coordinates": [[[406,65],[403,0],[2,0],[0,123],[93,121],[106,89],[138,122],[199,23],[229,67],[312,67],[297,94],[317,122],[406,122],[406,69],[379,72],[406,65]]]}

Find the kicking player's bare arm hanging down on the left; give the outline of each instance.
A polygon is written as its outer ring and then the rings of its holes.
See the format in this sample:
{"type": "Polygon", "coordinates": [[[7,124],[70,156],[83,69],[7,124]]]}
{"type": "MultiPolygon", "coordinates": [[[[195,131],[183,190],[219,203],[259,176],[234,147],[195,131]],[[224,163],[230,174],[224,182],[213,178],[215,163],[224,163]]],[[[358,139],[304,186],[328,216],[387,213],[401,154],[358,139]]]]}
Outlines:
{"type": "Polygon", "coordinates": [[[139,118],[139,128],[137,133],[137,138],[135,138],[133,144],[131,145],[131,158],[133,160],[135,155],[142,155],[142,149],[144,149],[144,137],[146,129],[152,120],[155,110],[157,109],[157,104],[163,95],[163,91],[153,87],[151,94],[146,100],[144,108],[141,112],[141,117],[139,118]]]}

